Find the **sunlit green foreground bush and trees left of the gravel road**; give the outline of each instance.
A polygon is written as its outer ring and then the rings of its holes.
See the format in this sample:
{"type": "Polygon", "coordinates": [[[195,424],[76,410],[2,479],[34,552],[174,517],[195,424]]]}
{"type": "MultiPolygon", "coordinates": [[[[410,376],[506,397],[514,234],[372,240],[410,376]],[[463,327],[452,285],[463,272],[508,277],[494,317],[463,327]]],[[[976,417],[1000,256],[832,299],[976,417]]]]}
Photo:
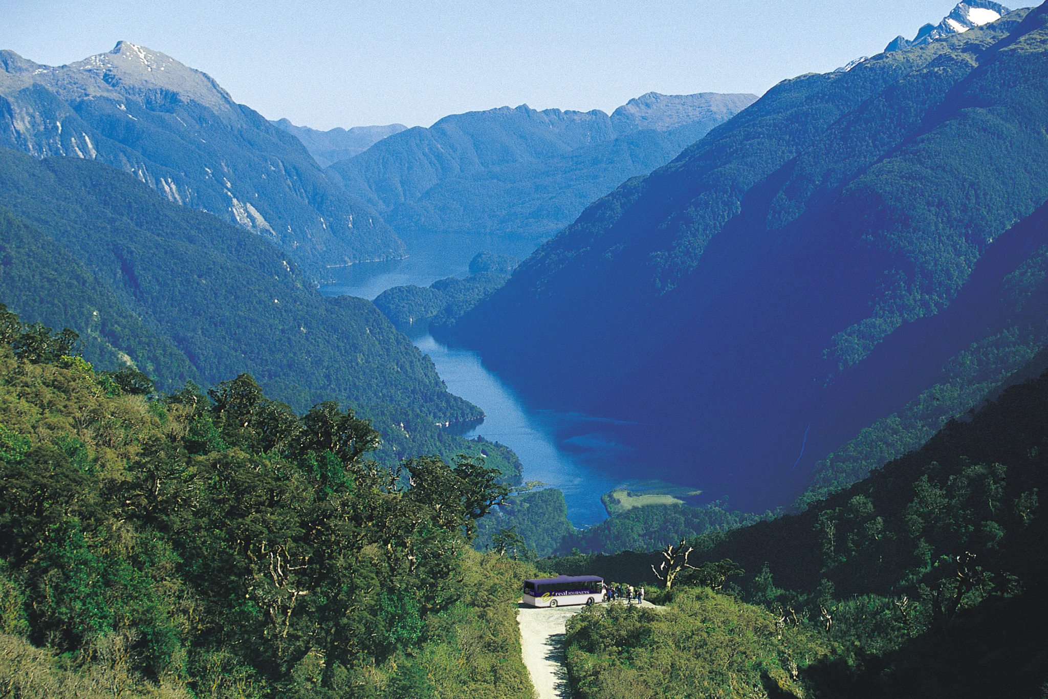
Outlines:
{"type": "Polygon", "coordinates": [[[0,309],[0,693],[529,696],[533,569],[470,547],[495,469],[391,471],[334,403],[165,395],[77,346],[0,309]]]}

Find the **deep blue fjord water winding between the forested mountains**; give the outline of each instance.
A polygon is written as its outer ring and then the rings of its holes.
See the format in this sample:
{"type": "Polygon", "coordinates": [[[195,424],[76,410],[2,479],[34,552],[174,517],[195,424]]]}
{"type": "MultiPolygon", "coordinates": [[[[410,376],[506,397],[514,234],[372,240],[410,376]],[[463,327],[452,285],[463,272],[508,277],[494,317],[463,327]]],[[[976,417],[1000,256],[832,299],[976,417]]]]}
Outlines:
{"type": "MultiPolygon", "coordinates": [[[[429,286],[444,277],[464,276],[467,264],[468,257],[442,256],[355,264],[336,270],[337,280],[322,286],[321,292],[374,300],[392,286],[429,286]]],[[[465,436],[481,435],[512,449],[521,458],[525,482],[542,481],[564,493],[575,526],[606,519],[601,496],[624,481],[643,478],[631,473],[630,450],[621,439],[631,425],[528,406],[476,352],[447,347],[424,331],[412,342],[430,355],[452,393],[484,411],[484,421],[465,436]]]]}

